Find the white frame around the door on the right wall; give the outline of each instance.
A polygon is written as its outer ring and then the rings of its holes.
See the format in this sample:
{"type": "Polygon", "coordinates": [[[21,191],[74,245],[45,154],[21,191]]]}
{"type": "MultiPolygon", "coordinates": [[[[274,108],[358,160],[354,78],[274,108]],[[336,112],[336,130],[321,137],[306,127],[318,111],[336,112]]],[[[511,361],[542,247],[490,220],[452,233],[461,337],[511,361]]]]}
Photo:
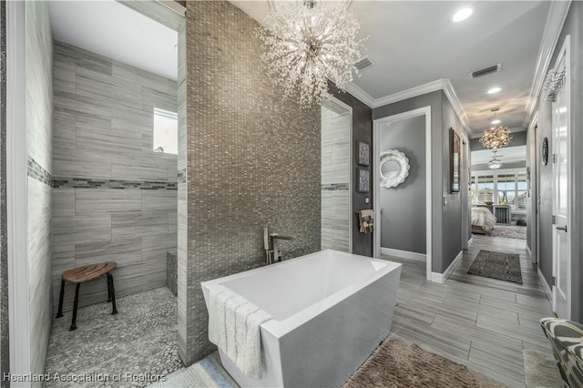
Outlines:
{"type": "MultiPolygon", "coordinates": [[[[571,123],[571,87],[570,87],[570,81],[571,81],[571,63],[570,63],[570,36],[565,36],[565,42],[563,43],[563,46],[561,47],[560,51],[559,51],[559,55],[557,56],[557,61],[555,62],[555,67],[553,68],[553,70],[557,70],[557,66],[560,63],[560,61],[564,60],[565,63],[567,64],[566,66],[566,73],[565,73],[565,96],[567,97],[567,149],[568,149],[568,158],[567,158],[567,176],[568,176],[568,187],[567,187],[567,206],[568,206],[568,210],[567,210],[567,226],[570,227],[572,225],[571,221],[574,220],[574,214],[573,214],[573,196],[572,196],[572,189],[571,189],[571,184],[572,184],[572,173],[573,173],[573,168],[572,168],[572,158],[573,158],[573,153],[571,151],[571,146],[570,146],[570,139],[572,138],[572,123],[571,123]]],[[[552,121],[551,121],[552,123],[552,121]]],[[[554,140],[554,135],[555,135],[555,123],[551,124],[551,139],[554,140]]],[[[554,158],[555,155],[555,141],[551,141],[551,150],[553,151],[551,154],[551,158],[554,158]]],[[[553,175],[554,175],[554,160],[551,159],[551,163],[553,163],[553,175]]],[[[553,178],[554,179],[554,178],[553,178]]],[[[556,193],[555,193],[555,181],[553,180],[553,186],[552,186],[552,197],[551,197],[551,206],[552,206],[552,210],[553,213],[555,212],[555,197],[556,197],[556,193]]],[[[553,279],[557,278],[557,257],[555,252],[557,251],[557,239],[556,239],[556,225],[553,224],[553,234],[552,234],[552,276],[553,279]]],[[[571,319],[571,310],[572,310],[572,292],[571,292],[571,288],[573,287],[573,281],[571,279],[571,228],[568,228],[568,230],[566,231],[567,234],[567,256],[568,256],[568,260],[567,260],[567,269],[565,269],[565,271],[567,272],[568,276],[567,276],[567,308],[566,308],[566,316],[563,317],[559,317],[559,318],[564,318],[564,319],[571,319]]],[[[553,311],[557,312],[557,286],[555,284],[551,285],[551,291],[552,291],[552,305],[553,305],[553,311]]]]}

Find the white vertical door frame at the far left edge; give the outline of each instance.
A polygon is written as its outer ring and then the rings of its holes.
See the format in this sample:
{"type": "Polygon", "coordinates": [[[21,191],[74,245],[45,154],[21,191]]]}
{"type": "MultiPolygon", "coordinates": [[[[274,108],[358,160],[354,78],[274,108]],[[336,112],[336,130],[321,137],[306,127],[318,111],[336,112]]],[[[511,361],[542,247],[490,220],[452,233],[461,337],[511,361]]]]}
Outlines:
{"type": "Polygon", "coordinates": [[[5,20],[10,373],[26,374],[30,373],[31,368],[26,174],[26,3],[7,1],[5,20]]]}

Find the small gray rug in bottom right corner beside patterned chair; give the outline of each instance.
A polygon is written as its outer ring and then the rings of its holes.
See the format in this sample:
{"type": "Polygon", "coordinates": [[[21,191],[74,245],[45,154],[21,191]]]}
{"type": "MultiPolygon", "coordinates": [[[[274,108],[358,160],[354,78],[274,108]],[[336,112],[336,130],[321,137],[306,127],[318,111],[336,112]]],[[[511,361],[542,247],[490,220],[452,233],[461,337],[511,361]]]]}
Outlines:
{"type": "Polygon", "coordinates": [[[525,360],[525,383],[527,388],[562,387],[563,380],[552,354],[534,349],[522,351],[525,360]]]}

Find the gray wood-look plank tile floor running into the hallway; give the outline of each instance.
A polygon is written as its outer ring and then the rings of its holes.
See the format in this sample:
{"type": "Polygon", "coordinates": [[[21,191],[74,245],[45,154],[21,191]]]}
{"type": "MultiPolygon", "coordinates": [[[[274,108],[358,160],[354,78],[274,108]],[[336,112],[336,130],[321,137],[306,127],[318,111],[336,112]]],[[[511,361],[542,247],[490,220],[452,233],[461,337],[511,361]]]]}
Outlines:
{"type": "Polygon", "coordinates": [[[553,312],[526,240],[474,235],[445,284],[426,281],[423,261],[384,259],[403,263],[394,334],[511,387],[525,386],[524,349],[551,354],[539,320],[553,312]],[[468,274],[480,250],[519,254],[523,284],[468,274]]]}

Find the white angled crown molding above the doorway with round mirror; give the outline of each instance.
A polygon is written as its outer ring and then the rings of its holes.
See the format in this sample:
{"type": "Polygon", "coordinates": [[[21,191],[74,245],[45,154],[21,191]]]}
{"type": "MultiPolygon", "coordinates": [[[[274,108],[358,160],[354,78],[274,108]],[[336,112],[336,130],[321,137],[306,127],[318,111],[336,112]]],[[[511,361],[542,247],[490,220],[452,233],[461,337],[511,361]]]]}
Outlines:
{"type": "Polygon", "coordinates": [[[459,102],[459,98],[455,94],[455,89],[452,86],[452,83],[449,79],[442,78],[437,79],[433,82],[429,82],[424,85],[420,85],[418,87],[411,87],[410,89],[406,89],[392,95],[388,95],[381,98],[373,98],[371,95],[366,93],[362,88],[357,87],[352,82],[349,82],[345,85],[344,90],[348,93],[360,99],[364,104],[368,107],[383,107],[384,105],[393,104],[394,102],[403,101],[407,98],[413,98],[425,95],[427,93],[435,92],[436,90],[443,90],[445,92],[445,96],[449,99],[449,102],[454,107],[455,113],[459,117],[462,125],[465,128],[465,131],[468,133],[469,137],[472,138],[474,136],[474,132],[472,132],[472,128],[470,128],[467,116],[465,115],[464,107],[459,102]]]}

